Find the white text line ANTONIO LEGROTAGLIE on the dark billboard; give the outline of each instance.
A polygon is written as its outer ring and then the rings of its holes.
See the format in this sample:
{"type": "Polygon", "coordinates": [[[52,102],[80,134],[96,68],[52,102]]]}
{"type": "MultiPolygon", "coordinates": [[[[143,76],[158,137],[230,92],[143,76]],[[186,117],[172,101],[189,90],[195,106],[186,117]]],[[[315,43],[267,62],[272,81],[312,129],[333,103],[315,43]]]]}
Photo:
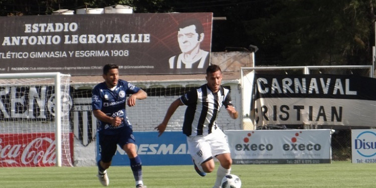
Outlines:
{"type": "MultiPolygon", "coordinates": [[[[64,35],[64,44],[103,44],[103,43],[150,43],[150,34],[99,34],[99,35],[64,35]]],[[[19,36],[4,37],[3,46],[18,45],[57,45],[62,37],[54,36],[19,36]]]]}

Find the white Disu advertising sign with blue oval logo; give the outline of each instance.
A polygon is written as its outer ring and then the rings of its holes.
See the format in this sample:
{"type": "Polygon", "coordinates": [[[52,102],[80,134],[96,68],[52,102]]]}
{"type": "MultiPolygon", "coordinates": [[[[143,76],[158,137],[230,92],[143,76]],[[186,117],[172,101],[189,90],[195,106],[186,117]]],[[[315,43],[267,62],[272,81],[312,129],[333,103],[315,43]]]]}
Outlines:
{"type": "Polygon", "coordinates": [[[351,130],[351,162],[376,163],[376,130],[351,130]]]}

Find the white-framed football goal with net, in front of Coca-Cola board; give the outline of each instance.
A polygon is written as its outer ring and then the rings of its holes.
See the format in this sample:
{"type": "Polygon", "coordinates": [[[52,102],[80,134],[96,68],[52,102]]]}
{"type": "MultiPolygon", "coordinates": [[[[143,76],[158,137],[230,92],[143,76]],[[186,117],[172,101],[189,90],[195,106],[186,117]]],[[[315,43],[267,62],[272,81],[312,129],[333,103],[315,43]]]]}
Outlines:
{"type": "Polygon", "coordinates": [[[0,166],[73,166],[70,75],[0,74],[0,166]]]}

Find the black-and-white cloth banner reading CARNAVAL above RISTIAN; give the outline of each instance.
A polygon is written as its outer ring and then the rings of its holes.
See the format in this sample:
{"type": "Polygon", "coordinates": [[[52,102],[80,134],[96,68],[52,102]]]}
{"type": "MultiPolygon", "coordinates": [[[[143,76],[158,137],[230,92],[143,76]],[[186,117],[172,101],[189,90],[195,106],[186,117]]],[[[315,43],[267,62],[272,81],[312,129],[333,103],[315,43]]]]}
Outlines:
{"type": "Polygon", "coordinates": [[[374,126],[376,79],[354,75],[255,75],[255,122],[374,126]]]}

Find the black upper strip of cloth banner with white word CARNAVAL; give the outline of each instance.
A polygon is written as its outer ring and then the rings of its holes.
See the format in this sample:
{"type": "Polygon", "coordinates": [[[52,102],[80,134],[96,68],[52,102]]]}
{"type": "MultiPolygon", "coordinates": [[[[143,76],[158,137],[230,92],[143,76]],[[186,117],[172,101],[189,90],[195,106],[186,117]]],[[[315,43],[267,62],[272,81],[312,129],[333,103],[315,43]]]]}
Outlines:
{"type": "Polygon", "coordinates": [[[376,100],[376,79],[356,75],[256,74],[258,98],[332,98],[376,100]]]}

